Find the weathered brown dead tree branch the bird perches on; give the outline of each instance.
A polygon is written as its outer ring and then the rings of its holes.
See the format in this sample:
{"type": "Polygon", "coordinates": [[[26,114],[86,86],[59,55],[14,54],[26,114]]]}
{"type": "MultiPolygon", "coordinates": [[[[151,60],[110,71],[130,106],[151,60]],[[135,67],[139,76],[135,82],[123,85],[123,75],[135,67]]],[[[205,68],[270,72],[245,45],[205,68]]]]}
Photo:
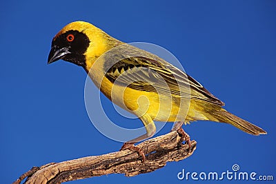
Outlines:
{"type": "Polygon", "coordinates": [[[136,152],[124,150],[88,156],[61,163],[49,163],[41,167],[32,167],[22,174],[14,184],[19,184],[24,178],[26,184],[30,183],[63,183],[92,176],[101,176],[112,173],[135,176],[137,174],[152,172],[166,165],[166,162],[180,161],[193,154],[196,142],[191,141],[191,148],[182,144],[179,146],[180,137],[177,132],[158,136],[137,145],[146,153],[146,161],[141,162],[141,156],[136,152]]]}

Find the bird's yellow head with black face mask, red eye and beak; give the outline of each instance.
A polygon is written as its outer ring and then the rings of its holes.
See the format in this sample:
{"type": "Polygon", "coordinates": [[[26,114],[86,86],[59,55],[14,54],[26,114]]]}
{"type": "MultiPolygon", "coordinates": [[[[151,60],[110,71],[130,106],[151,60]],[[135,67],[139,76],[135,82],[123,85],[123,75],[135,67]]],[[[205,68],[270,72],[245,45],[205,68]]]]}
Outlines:
{"type": "Polygon", "coordinates": [[[108,50],[111,38],[90,23],[69,23],[52,39],[48,64],[63,59],[88,70],[108,50]]]}

